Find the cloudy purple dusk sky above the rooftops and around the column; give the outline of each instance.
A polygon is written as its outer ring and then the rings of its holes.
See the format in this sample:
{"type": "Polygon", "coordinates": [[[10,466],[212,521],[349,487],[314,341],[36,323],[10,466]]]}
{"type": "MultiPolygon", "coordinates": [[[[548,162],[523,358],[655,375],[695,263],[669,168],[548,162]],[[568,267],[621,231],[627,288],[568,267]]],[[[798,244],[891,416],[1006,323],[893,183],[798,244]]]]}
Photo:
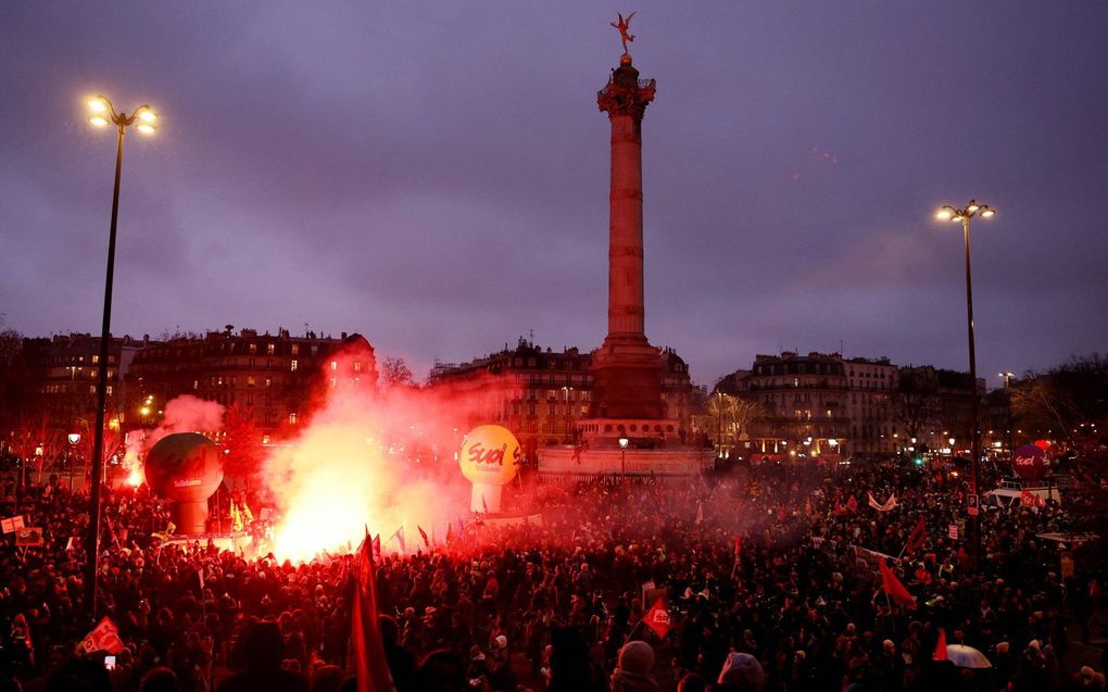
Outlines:
{"type": "Polygon", "coordinates": [[[699,384],[757,353],[966,370],[1108,351],[1108,3],[4,2],[0,313],[99,334],[360,332],[468,361],[606,331],[608,121],[637,10],[646,333],[699,384]]]}

